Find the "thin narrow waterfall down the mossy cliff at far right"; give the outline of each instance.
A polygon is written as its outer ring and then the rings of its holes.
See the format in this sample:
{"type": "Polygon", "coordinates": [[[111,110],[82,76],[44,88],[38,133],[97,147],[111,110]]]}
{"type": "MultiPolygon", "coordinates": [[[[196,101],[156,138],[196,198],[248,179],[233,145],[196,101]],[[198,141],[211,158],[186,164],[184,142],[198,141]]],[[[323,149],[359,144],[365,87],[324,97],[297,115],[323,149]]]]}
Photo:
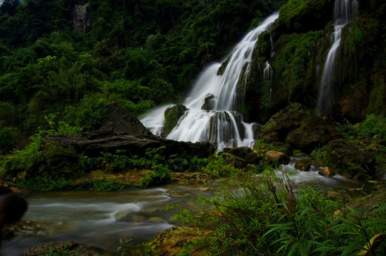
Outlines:
{"type": "Polygon", "coordinates": [[[331,89],[335,82],[336,55],[341,46],[342,28],[353,21],[358,16],[357,0],[336,0],[333,11],[334,32],[333,45],[328,51],[326,63],[324,64],[323,75],[321,78],[321,88],[318,95],[318,112],[320,114],[331,114],[331,89]]]}

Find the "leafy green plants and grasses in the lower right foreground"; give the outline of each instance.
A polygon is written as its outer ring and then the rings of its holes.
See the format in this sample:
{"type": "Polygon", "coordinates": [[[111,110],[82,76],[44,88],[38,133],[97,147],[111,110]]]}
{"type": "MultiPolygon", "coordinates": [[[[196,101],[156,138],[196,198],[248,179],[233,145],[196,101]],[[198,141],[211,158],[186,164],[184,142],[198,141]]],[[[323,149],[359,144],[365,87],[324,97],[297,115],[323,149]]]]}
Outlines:
{"type": "MultiPolygon", "coordinates": [[[[343,192],[331,200],[317,186],[296,187],[287,176],[269,173],[230,181],[221,195],[179,215],[214,228],[201,241],[208,255],[357,255],[386,230],[382,195],[371,210],[362,210],[343,192]]],[[[383,245],[372,250],[386,252],[383,245]]]]}

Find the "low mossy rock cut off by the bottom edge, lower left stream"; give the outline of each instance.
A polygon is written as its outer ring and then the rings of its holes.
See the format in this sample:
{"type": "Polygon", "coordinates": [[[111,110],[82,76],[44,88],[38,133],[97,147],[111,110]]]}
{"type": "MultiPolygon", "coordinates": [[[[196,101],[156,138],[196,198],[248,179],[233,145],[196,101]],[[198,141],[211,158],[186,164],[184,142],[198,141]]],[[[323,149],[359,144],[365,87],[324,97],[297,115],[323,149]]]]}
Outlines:
{"type": "Polygon", "coordinates": [[[98,256],[96,252],[92,252],[87,247],[74,241],[48,242],[44,245],[30,247],[26,250],[26,256],[53,255],[52,253],[60,253],[63,250],[67,251],[68,254],[66,255],[98,256]]]}

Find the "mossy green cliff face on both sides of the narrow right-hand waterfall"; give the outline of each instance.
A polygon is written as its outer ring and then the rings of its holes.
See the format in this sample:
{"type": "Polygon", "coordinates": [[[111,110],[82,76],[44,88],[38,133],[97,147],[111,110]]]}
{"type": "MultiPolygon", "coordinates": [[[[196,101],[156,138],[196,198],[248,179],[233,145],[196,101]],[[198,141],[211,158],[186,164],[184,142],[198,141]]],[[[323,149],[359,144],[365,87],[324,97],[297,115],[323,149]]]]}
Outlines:
{"type": "MultiPolygon", "coordinates": [[[[267,118],[291,102],[316,108],[321,75],[331,48],[335,1],[288,1],[272,26],[274,55],[259,46],[271,38],[259,38],[247,81],[244,115],[249,122],[267,118]],[[315,23],[313,23],[315,21],[315,23]],[[273,76],[263,79],[270,63],[273,76]],[[256,111],[259,110],[259,111],[256,111]]],[[[363,120],[368,114],[386,114],[386,4],[358,1],[359,14],[341,32],[336,75],[331,92],[331,115],[336,119],[363,120]]]]}

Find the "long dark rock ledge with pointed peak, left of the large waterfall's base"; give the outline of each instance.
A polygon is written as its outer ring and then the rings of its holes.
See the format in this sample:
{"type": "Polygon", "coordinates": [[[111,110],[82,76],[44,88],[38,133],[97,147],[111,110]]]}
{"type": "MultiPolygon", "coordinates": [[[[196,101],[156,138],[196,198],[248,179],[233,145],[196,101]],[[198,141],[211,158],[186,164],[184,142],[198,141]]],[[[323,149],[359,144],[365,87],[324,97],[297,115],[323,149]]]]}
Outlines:
{"type": "Polygon", "coordinates": [[[43,139],[45,142],[73,148],[87,156],[98,156],[100,152],[115,153],[117,149],[125,150],[132,156],[144,156],[146,149],[165,146],[163,154],[170,156],[208,157],[215,152],[215,146],[209,142],[176,142],[156,137],[137,119],[134,114],[123,107],[113,104],[100,130],[82,135],[55,135],[43,139]]]}

